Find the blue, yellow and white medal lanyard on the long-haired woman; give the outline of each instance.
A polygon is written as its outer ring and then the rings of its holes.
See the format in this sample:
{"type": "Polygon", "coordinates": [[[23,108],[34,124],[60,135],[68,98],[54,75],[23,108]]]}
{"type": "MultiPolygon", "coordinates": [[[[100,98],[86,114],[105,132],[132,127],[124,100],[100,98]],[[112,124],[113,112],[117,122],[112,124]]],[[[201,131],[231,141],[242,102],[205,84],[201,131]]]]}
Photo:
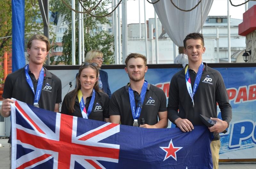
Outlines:
{"type": "Polygon", "coordinates": [[[84,104],[84,98],[83,98],[83,94],[82,94],[81,89],[78,90],[77,97],[78,97],[78,100],[79,100],[82,116],[83,116],[83,118],[88,119],[89,115],[92,112],[92,106],[93,106],[93,103],[94,103],[94,100],[95,100],[95,90],[94,89],[92,90],[92,99],[90,101],[87,112],[86,112],[86,108],[85,108],[85,104],[84,104]]]}

